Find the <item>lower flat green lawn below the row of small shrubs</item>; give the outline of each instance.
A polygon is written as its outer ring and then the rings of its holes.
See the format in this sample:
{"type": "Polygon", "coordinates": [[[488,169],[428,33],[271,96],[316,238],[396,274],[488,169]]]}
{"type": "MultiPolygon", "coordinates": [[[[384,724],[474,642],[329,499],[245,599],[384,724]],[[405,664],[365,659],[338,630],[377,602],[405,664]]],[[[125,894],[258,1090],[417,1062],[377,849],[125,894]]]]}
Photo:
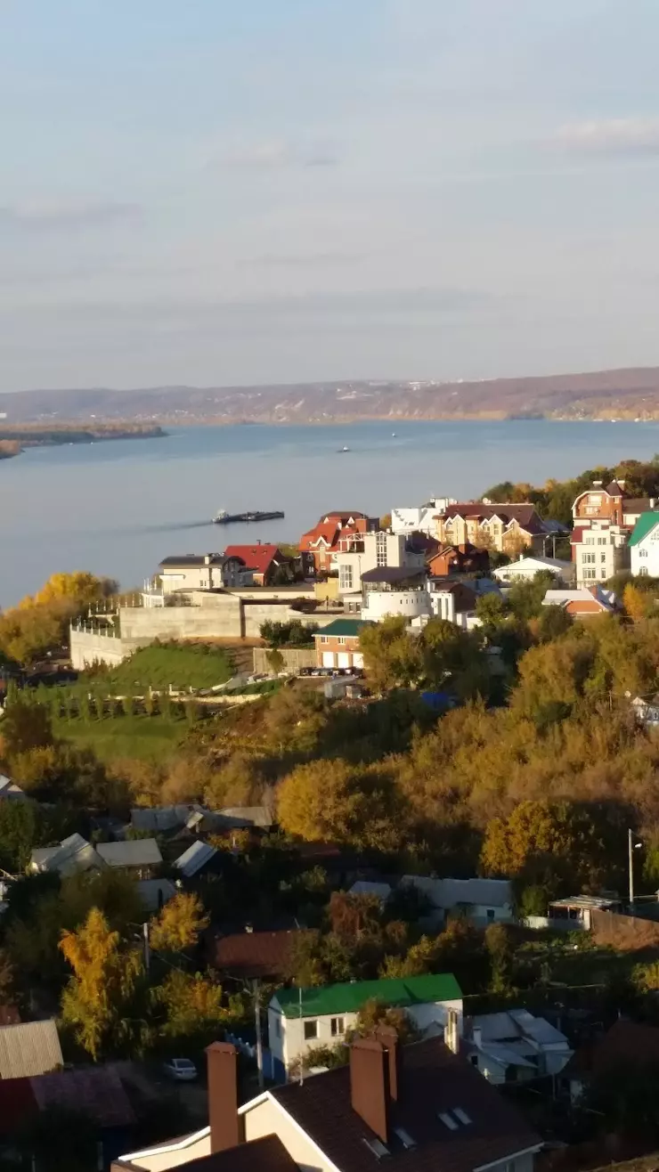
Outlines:
{"type": "Polygon", "coordinates": [[[54,732],[81,749],[93,749],[106,764],[122,757],[163,761],[183,741],[188,722],[163,720],[162,716],[117,716],[88,722],[56,720],[54,732]]]}

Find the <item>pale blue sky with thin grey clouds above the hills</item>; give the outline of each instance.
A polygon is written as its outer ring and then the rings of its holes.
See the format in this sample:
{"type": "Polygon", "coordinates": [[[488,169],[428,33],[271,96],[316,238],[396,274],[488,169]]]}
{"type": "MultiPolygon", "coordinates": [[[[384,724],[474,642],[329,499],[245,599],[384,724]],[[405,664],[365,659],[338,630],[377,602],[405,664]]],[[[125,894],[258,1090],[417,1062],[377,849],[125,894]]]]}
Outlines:
{"type": "Polygon", "coordinates": [[[659,364],[657,0],[0,0],[0,390],[659,364]]]}

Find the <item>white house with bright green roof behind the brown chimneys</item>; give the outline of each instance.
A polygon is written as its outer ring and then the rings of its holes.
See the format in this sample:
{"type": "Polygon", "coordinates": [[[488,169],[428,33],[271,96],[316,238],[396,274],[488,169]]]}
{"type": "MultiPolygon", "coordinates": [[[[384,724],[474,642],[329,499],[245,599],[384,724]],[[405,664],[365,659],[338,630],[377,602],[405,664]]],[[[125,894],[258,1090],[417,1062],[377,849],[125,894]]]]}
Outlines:
{"type": "Polygon", "coordinates": [[[455,1017],[462,1033],[462,993],[453,974],[348,981],[313,989],[278,989],[267,1007],[267,1036],[277,1069],[288,1070],[318,1045],[338,1045],[368,1001],[405,1009],[420,1030],[455,1017]]]}

